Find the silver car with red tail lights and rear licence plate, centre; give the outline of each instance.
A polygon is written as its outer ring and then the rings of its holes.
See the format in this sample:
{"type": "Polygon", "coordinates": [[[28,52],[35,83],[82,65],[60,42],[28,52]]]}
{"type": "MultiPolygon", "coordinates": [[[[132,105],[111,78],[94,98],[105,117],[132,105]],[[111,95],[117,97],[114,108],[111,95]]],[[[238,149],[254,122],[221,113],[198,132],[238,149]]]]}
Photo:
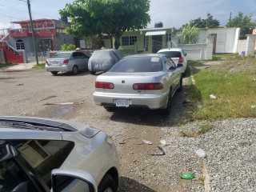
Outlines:
{"type": "Polygon", "coordinates": [[[135,54],[122,58],[98,75],[94,102],[113,111],[116,107],[161,109],[170,114],[171,98],[182,89],[182,64],[166,54],[135,54]]]}

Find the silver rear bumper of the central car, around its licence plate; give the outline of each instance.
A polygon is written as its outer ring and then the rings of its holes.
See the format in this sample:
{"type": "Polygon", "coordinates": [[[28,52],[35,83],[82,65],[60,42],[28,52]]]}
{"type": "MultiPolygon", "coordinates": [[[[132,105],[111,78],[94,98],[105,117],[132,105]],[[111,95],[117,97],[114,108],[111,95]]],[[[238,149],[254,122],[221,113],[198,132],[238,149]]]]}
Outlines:
{"type": "Polygon", "coordinates": [[[129,99],[129,107],[155,110],[166,107],[168,94],[113,94],[94,92],[93,96],[94,102],[98,106],[115,106],[116,99],[129,99]]]}

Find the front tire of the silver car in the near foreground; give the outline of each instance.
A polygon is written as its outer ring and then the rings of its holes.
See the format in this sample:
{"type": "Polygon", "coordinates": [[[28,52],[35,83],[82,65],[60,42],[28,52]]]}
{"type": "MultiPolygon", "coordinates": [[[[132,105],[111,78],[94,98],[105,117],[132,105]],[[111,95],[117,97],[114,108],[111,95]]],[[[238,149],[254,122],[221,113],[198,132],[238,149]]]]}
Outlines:
{"type": "Polygon", "coordinates": [[[116,183],[114,182],[114,178],[110,176],[110,174],[106,174],[102,181],[98,185],[98,192],[108,192],[108,191],[117,191],[118,186],[116,186],[116,183]]]}

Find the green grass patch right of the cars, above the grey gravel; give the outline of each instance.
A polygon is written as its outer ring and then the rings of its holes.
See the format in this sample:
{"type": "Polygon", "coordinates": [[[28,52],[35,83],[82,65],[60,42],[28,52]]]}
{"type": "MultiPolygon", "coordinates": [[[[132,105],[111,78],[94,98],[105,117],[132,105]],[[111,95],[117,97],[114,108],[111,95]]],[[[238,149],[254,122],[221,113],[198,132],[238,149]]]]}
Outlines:
{"type": "Polygon", "coordinates": [[[190,82],[194,120],[256,117],[256,109],[252,107],[256,105],[255,71],[255,58],[232,56],[224,58],[218,66],[194,74],[195,85],[190,82]],[[210,94],[216,99],[210,98],[210,94]]]}

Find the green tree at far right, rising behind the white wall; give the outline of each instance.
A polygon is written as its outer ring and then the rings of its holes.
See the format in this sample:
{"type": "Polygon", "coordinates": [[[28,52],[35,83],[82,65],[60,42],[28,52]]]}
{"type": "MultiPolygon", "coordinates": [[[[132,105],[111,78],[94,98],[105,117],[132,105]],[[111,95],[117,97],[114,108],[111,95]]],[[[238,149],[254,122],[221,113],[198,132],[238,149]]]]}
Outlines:
{"type": "Polygon", "coordinates": [[[242,12],[226,24],[227,27],[240,27],[240,38],[246,38],[246,34],[252,34],[256,23],[251,21],[250,16],[244,16],[242,12]]]}

